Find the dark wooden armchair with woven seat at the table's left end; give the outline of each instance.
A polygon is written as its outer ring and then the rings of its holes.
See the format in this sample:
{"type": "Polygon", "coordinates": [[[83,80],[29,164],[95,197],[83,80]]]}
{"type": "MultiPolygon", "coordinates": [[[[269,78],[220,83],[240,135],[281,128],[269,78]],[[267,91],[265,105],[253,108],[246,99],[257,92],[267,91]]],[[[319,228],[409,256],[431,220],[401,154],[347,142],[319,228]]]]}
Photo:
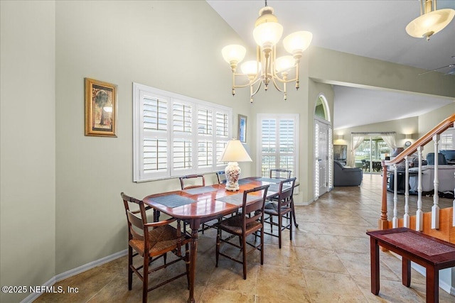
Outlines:
{"type": "MultiPolygon", "coordinates": [[[[180,220],[175,218],[149,223],[144,202],[121,193],[128,224],[128,290],[132,290],[133,272],[142,281],[142,302],[147,302],[149,291],[186,275],[189,287],[189,246],[191,238],[181,232],[180,220]],[[131,207],[131,208],[130,208],[131,207]],[[133,210],[134,209],[134,210],[133,210]],[[170,224],[177,221],[177,227],[170,224]],[[181,246],[185,246],[185,254],[181,246]],[[176,258],[168,262],[167,253],[172,252],[176,258]],[[143,262],[134,262],[134,257],[143,258],[143,262]],[[157,264],[158,260],[163,261],[157,264]],[[167,268],[178,261],[186,263],[186,271],[172,277],[160,276],[159,283],[149,287],[149,275],[167,268]],[[166,280],[165,280],[166,279],[166,280]]],[[[168,271],[170,272],[170,271],[168,271]]]]}

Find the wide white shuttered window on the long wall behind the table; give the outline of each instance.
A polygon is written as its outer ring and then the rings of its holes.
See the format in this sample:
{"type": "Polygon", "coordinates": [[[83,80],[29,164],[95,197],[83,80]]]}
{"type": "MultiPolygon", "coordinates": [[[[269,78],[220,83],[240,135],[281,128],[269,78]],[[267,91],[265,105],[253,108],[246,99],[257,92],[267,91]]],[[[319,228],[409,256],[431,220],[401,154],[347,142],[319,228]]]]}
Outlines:
{"type": "Polygon", "coordinates": [[[214,172],[232,137],[232,109],[133,84],[134,182],[214,172]]]}

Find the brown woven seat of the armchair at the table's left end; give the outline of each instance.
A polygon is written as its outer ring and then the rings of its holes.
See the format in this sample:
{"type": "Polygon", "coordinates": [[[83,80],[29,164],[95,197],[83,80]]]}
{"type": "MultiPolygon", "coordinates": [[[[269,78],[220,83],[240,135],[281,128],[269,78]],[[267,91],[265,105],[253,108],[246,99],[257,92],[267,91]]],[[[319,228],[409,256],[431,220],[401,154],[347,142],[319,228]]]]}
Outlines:
{"type": "MultiPolygon", "coordinates": [[[[172,226],[165,225],[149,231],[149,255],[159,255],[163,250],[177,247],[177,230],[172,226]]],[[[183,240],[183,238],[182,238],[183,240]]],[[[129,245],[140,255],[144,255],[144,241],[132,239],[129,245]]]]}

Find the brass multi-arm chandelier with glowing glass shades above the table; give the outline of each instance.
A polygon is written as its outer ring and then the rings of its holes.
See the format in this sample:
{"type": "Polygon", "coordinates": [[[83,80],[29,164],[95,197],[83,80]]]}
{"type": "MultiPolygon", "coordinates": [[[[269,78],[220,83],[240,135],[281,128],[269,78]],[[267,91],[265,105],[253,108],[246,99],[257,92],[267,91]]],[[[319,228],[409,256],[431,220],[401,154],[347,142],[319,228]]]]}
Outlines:
{"type": "Polygon", "coordinates": [[[228,45],[221,51],[223,58],[232,70],[232,96],[236,88],[250,87],[250,102],[264,84],[267,91],[270,82],[283,93],[287,100],[286,84],[296,82],[299,89],[299,62],[302,53],[309,47],[313,34],[309,31],[297,31],[283,40],[284,49],[291,55],[277,56],[277,43],[283,35],[283,26],[273,14],[273,8],[267,6],[259,10],[253,37],[257,43],[256,60],[245,61],[240,65],[242,73],[237,73],[237,65],[245,58],[246,49],[242,45],[228,45]],[[288,77],[291,77],[288,79],[288,77]],[[243,78],[243,84],[236,84],[237,77],[243,78]]]}

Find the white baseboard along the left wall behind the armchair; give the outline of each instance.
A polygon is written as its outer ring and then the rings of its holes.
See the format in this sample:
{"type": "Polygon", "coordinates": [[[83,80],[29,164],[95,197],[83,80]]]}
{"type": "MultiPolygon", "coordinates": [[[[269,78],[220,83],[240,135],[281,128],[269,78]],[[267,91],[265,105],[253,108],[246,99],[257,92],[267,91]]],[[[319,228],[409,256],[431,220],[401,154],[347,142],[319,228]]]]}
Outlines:
{"type": "MultiPolygon", "coordinates": [[[[73,268],[72,270],[68,270],[65,272],[62,272],[58,275],[55,275],[54,277],[51,277],[47,282],[45,282],[42,286],[52,286],[56,282],[59,282],[61,280],[65,280],[68,277],[73,277],[73,275],[78,275],[81,272],[85,272],[87,270],[91,270],[92,268],[96,268],[97,266],[103,265],[105,263],[111,262],[113,260],[116,260],[118,258],[123,257],[124,255],[128,254],[128,250],[122,250],[119,251],[118,253],[114,253],[112,255],[107,255],[105,258],[101,258],[95,261],[92,261],[90,263],[87,263],[85,265],[81,265],[78,268],[73,268]]],[[[33,302],[35,301],[39,296],[41,296],[41,292],[33,292],[32,294],[29,294],[25,299],[21,301],[21,303],[28,303],[28,302],[33,302]]]]}

